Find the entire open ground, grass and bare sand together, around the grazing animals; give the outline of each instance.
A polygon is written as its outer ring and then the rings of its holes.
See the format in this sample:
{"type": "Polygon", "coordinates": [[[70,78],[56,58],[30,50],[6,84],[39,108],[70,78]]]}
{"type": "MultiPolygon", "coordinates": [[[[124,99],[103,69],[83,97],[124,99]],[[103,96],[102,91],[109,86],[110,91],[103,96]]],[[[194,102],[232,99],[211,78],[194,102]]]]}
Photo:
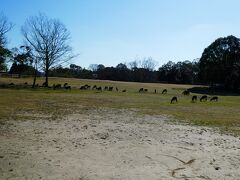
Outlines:
{"type": "Polygon", "coordinates": [[[50,86],[71,86],[53,90],[25,82],[32,79],[0,78],[0,175],[6,179],[240,177],[238,95],[200,102],[203,94],[182,94],[192,85],[50,78],[50,86]],[[91,88],[80,90],[85,84],[91,88]],[[173,96],[178,102],[171,104],[173,96]]]}

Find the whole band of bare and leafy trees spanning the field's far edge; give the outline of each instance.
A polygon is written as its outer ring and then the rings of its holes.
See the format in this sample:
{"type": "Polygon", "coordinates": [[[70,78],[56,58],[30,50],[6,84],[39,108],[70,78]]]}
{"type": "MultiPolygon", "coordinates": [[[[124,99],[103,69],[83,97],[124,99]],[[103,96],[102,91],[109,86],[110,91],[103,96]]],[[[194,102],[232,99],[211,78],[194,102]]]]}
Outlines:
{"type": "Polygon", "coordinates": [[[74,57],[69,45],[70,33],[58,19],[43,14],[28,18],[21,28],[24,44],[19,48],[6,48],[6,34],[13,28],[3,14],[0,15],[0,72],[32,75],[36,77],[74,77],[134,82],[166,82],[206,84],[227,90],[240,88],[240,39],[227,36],[216,39],[193,61],[169,61],[158,69],[151,57],[119,63],[115,67],[91,64],[88,69],[70,64],[74,57]],[[7,70],[6,63],[12,62],[7,70]]]}

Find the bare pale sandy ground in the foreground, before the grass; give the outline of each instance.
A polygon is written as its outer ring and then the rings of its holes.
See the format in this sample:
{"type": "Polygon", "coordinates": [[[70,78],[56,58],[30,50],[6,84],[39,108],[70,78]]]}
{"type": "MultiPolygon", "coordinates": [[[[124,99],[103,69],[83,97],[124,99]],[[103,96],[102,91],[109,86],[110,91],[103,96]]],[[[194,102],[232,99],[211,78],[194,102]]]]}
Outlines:
{"type": "Polygon", "coordinates": [[[240,179],[240,139],[98,109],[0,125],[0,179],[240,179]]]}

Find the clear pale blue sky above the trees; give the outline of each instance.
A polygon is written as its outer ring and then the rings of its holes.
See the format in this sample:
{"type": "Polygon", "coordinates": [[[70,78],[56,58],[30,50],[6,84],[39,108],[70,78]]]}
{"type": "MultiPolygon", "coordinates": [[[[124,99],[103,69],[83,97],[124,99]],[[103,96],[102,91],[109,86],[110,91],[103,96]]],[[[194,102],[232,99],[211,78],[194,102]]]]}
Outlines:
{"type": "Polygon", "coordinates": [[[72,63],[116,66],[152,57],[168,61],[200,58],[215,39],[240,37],[239,0],[0,0],[14,28],[8,47],[23,43],[21,26],[44,13],[71,33],[72,63]]]}

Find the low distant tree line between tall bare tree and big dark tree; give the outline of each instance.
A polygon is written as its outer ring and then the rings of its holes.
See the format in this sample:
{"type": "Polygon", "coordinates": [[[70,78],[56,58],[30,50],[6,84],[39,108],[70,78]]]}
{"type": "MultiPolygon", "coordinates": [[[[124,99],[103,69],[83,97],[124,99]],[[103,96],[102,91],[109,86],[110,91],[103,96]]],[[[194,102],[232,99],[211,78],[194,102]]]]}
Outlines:
{"type": "Polygon", "coordinates": [[[144,63],[134,60],[129,63],[119,63],[115,67],[105,67],[103,64],[92,64],[88,69],[71,64],[69,67],[57,66],[50,70],[50,76],[101,79],[130,82],[166,82],[166,83],[199,83],[198,63],[196,61],[184,61],[167,64],[155,70],[151,58],[145,58],[144,63]]]}

